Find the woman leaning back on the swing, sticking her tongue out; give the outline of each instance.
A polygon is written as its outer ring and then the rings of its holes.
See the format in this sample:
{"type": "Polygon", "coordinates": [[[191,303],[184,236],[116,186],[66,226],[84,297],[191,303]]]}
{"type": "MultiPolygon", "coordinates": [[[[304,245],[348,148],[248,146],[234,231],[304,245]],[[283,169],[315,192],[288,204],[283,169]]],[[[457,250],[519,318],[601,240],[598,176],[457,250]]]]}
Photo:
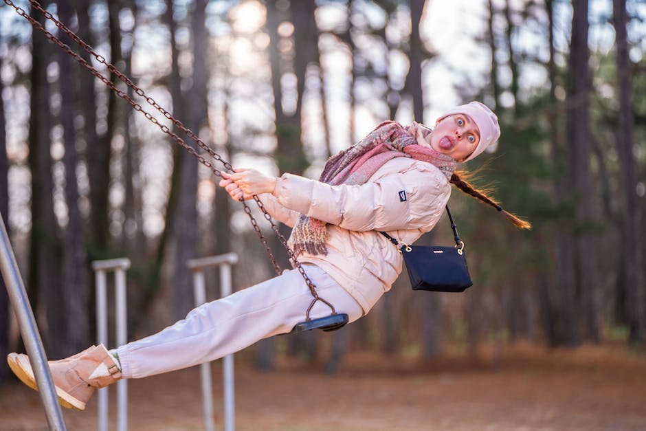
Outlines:
{"type": "MultiPolygon", "coordinates": [[[[272,217],[293,228],[289,242],[318,294],[353,322],[364,316],[401,272],[402,257],[378,231],[413,243],[431,230],[451,194],[450,184],[502,208],[454,174],[500,137],[495,114],[480,102],[447,111],[435,128],[383,122],[358,144],[331,157],[319,181],[268,177],[254,169],[222,173],[219,185],[236,200],[258,195],[272,217]]],[[[504,211],[503,211],[504,212],[504,211]]],[[[528,223],[504,212],[520,228],[528,223]]],[[[60,404],[83,410],[96,388],[209,362],[260,339],[289,333],[303,320],[312,294],[296,270],[284,272],[188,313],[142,340],[108,351],[92,346],[49,368],[60,404]]],[[[328,316],[317,301],[311,318],[328,316]]],[[[8,362],[36,388],[27,355],[8,362]]]]}

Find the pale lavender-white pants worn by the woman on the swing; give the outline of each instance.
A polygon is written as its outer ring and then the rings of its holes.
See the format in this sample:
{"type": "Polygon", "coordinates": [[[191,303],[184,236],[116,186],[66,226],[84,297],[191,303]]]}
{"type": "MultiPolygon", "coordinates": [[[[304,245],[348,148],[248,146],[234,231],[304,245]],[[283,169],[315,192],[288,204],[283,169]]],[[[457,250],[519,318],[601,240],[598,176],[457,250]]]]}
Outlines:
{"type": "MultiPolygon", "coordinates": [[[[319,296],[331,302],[350,322],[361,317],[359,303],[319,267],[303,265],[319,296]]],[[[240,351],[258,340],[288,333],[305,320],[313,300],[296,269],[258,285],[207,302],[166,329],[117,349],[126,378],[140,378],[179,370],[240,351]]],[[[310,317],[329,316],[331,309],[317,301],[310,317]]]]}

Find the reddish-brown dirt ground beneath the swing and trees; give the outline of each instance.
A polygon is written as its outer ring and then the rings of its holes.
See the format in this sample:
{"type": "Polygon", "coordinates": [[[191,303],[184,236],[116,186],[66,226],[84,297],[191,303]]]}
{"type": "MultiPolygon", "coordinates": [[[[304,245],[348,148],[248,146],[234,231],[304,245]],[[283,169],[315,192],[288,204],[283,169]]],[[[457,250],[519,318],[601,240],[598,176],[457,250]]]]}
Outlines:
{"type": "MultiPolygon", "coordinates": [[[[213,368],[221,430],[221,365],[213,368]]],[[[236,430],[646,430],[646,357],[621,345],[515,346],[478,363],[352,353],[333,377],[321,368],[281,362],[263,373],[238,360],[236,430]]],[[[197,368],[129,381],[131,430],[201,430],[201,420],[197,368]]],[[[95,430],[96,398],[85,412],[65,410],[65,421],[95,430]]],[[[45,429],[34,391],[0,386],[0,430],[45,429]]]]}

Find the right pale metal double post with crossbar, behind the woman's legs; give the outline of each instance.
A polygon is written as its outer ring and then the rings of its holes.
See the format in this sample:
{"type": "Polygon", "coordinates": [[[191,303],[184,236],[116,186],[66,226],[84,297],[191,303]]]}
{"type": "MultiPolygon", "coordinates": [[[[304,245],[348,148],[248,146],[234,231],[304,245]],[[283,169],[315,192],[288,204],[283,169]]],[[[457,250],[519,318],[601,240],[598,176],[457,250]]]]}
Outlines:
{"type": "MultiPolygon", "coordinates": [[[[238,255],[235,253],[221,254],[188,261],[188,267],[193,270],[195,305],[199,306],[206,302],[204,269],[212,266],[220,267],[220,283],[222,296],[231,294],[231,266],[238,262],[238,255]]],[[[234,399],[234,366],[233,355],[226,355],[223,359],[224,379],[224,429],[233,431],[235,428],[235,399],[234,399]]],[[[213,395],[211,388],[210,363],[200,366],[202,382],[202,402],[204,409],[204,428],[207,431],[214,430],[213,424],[213,395]]]]}

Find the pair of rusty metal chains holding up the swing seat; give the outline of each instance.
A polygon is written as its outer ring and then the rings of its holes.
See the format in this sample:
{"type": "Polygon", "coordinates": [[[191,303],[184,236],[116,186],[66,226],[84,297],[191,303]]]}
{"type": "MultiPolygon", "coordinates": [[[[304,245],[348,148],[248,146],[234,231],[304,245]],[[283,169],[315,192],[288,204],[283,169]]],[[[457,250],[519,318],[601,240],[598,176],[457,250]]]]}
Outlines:
{"type": "MultiPolygon", "coordinates": [[[[108,78],[103,76],[100,73],[100,71],[98,71],[96,68],[94,68],[89,63],[87,63],[87,61],[84,58],[82,58],[80,55],[78,55],[76,52],[74,52],[68,45],[66,45],[65,43],[60,41],[56,36],[54,36],[54,34],[47,31],[47,29],[45,29],[45,27],[41,23],[39,23],[38,21],[33,19],[29,14],[27,14],[27,12],[25,12],[25,10],[23,10],[19,6],[14,5],[14,3],[11,0],[3,0],[3,1],[7,5],[10,5],[12,8],[14,8],[16,10],[16,12],[20,16],[23,16],[23,18],[27,19],[27,21],[29,21],[34,27],[38,28],[38,30],[41,30],[41,32],[43,32],[43,34],[45,34],[45,36],[50,41],[56,43],[56,45],[58,45],[61,49],[63,49],[65,52],[67,52],[67,54],[71,55],[80,65],[82,65],[83,67],[88,69],[89,72],[93,76],[96,76],[96,78],[99,78],[105,85],[107,85],[110,89],[115,91],[115,93],[120,98],[126,100],[126,102],[131,104],[131,106],[133,107],[133,109],[135,109],[135,111],[140,111],[141,113],[143,113],[144,116],[146,117],[146,119],[151,121],[153,124],[157,125],[159,127],[159,129],[161,129],[161,131],[163,131],[164,133],[170,135],[170,137],[172,137],[172,139],[175,140],[175,142],[177,144],[179,144],[180,146],[185,148],[186,151],[188,151],[188,153],[190,153],[191,155],[196,157],[201,164],[203,164],[204,166],[206,166],[207,168],[212,170],[214,175],[217,175],[217,176],[221,177],[220,171],[217,168],[215,168],[213,166],[213,164],[208,162],[208,160],[205,159],[202,155],[197,153],[197,151],[192,146],[186,144],[186,142],[184,142],[184,140],[181,139],[181,137],[179,137],[176,133],[173,133],[172,131],[170,131],[168,126],[166,126],[165,124],[159,123],[157,118],[153,117],[153,115],[151,115],[151,113],[148,113],[148,111],[143,109],[142,106],[140,104],[138,104],[137,102],[135,102],[127,93],[125,93],[124,91],[118,89],[114,85],[114,83],[111,82],[111,80],[109,80],[108,78]]],[[[164,117],[167,118],[168,120],[170,120],[173,124],[175,124],[175,126],[177,126],[178,129],[180,129],[181,131],[186,133],[186,135],[188,137],[190,137],[192,140],[194,140],[194,142],[196,142],[199,145],[200,148],[202,148],[204,151],[206,151],[211,157],[216,159],[218,162],[221,162],[221,164],[223,164],[223,166],[225,166],[225,168],[227,168],[227,170],[233,170],[232,165],[229,162],[227,162],[219,154],[217,154],[215,151],[213,151],[212,148],[210,148],[197,135],[195,135],[186,126],[184,126],[182,122],[180,122],[179,120],[174,118],[168,111],[166,111],[166,109],[162,108],[153,98],[146,95],[144,90],[140,89],[140,87],[137,87],[137,85],[135,85],[127,76],[122,74],[114,65],[109,63],[100,54],[97,54],[94,51],[94,49],[90,45],[85,43],[85,41],[83,41],[76,33],[69,30],[68,27],[66,27],[63,23],[58,21],[56,18],[54,18],[54,16],[51,13],[49,13],[47,10],[44,10],[41,7],[41,5],[38,4],[37,1],[35,1],[35,0],[28,0],[28,1],[32,5],[32,8],[35,8],[36,10],[40,11],[43,14],[43,16],[45,16],[46,19],[49,19],[49,21],[52,21],[53,23],[55,23],[56,27],[58,27],[60,30],[65,32],[65,34],[67,34],[67,36],[69,36],[71,39],[76,41],[76,43],[78,43],[78,45],[80,45],[83,49],[85,49],[86,52],[88,52],[89,54],[91,54],[91,56],[96,58],[96,60],[99,63],[102,63],[103,65],[105,65],[107,67],[107,69],[109,71],[111,71],[111,73],[115,74],[115,76],[118,76],[118,78],[120,78],[120,80],[122,80],[122,82],[124,82],[128,87],[133,89],[133,91],[135,91],[135,93],[137,93],[138,96],[144,98],[144,100],[146,100],[146,102],[148,102],[148,104],[151,104],[151,106],[155,107],[155,109],[157,109],[157,111],[161,112],[161,114],[164,115],[164,117]]],[[[289,244],[287,243],[287,239],[285,239],[285,236],[283,236],[280,233],[280,231],[278,230],[278,226],[271,219],[271,215],[265,209],[265,206],[263,205],[262,201],[260,201],[260,199],[256,195],[254,195],[254,200],[258,204],[258,208],[260,208],[260,210],[263,212],[263,216],[265,217],[265,219],[267,219],[267,221],[269,221],[269,223],[271,224],[271,229],[274,230],[274,232],[276,233],[276,236],[278,236],[278,239],[280,240],[280,243],[282,243],[282,245],[285,247],[285,250],[287,250],[287,253],[289,254],[289,257],[293,261],[294,265],[296,265],[296,267],[298,269],[298,272],[300,272],[301,276],[304,278],[305,283],[307,284],[307,287],[309,287],[309,290],[311,291],[312,296],[315,298],[314,302],[316,300],[320,300],[320,301],[324,302],[326,305],[328,305],[328,307],[330,307],[332,309],[332,313],[335,314],[335,309],[334,309],[333,305],[331,305],[330,302],[328,302],[328,301],[324,300],[323,298],[321,298],[320,296],[318,296],[318,293],[316,291],[316,287],[315,287],[314,283],[310,280],[310,278],[305,273],[304,269],[302,268],[302,265],[300,264],[300,262],[296,258],[296,254],[293,252],[293,250],[291,250],[291,247],[289,247],[289,244]]],[[[274,255],[271,254],[271,249],[269,247],[269,244],[267,243],[267,239],[265,238],[263,233],[260,231],[260,227],[258,226],[258,223],[256,222],[256,219],[252,215],[251,208],[249,208],[249,206],[245,202],[243,202],[243,207],[245,209],[245,213],[247,214],[247,216],[249,217],[249,220],[252,223],[252,226],[253,226],[254,230],[256,231],[256,234],[258,235],[258,239],[260,239],[260,242],[263,243],[263,245],[265,246],[265,252],[267,252],[267,254],[269,255],[269,259],[271,260],[271,263],[274,265],[274,269],[276,270],[276,274],[280,275],[281,274],[280,265],[278,265],[278,262],[276,262],[276,258],[274,258],[274,255]]],[[[312,305],[313,305],[313,303],[312,303],[312,305]]],[[[312,305],[310,306],[310,308],[307,311],[307,318],[308,319],[309,319],[309,310],[311,309],[312,305]]]]}

